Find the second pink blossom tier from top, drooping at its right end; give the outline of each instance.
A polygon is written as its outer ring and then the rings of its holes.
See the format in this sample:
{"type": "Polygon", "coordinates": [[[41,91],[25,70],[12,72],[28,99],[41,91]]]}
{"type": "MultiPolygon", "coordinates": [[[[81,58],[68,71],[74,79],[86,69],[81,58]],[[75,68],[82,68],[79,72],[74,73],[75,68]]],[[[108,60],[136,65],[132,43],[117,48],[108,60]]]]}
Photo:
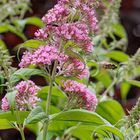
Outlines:
{"type": "MultiPolygon", "coordinates": [[[[49,25],[42,30],[38,30],[35,35],[38,39],[47,39],[48,37],[53,36],[54,42],[57,42],[57,40],[72,40],[87,53],[92,52],[93,50],[88,26],[85,23],[65,23],[60,26],[49,25]]],[[[75,47],[73,46],[73,48],[75,47]]]]}

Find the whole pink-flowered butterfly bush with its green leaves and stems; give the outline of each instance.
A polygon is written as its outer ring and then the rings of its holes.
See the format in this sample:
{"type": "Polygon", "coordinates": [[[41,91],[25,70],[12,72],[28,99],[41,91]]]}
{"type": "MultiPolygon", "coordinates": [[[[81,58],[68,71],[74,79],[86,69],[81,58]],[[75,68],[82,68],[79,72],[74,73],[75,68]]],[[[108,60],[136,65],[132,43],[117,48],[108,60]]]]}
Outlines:
{"type": "Polygon", "coordinates": [[[25,128],[37,140],[140,139],[140,99],[128,115],[114,100],[117,86],[125,101],[131,86],[140,87],[135,80],[140,49],[133,56],[125,53],[120,5],[121,0],[58,0],[42,19],[22,19],[29,9],[23,0],[19,13],[14,7],[0,19],[0,33],[10,31],[24,41],[15,46],[15,68],[0,40],[0,92],[6,91],[1,130],[16,129],[22,140],[25,128]],[[23,34],[28,23],[40,27],[30,40],[23,34]],[[32,76],[44,79],[45,86],[32,76]]]}

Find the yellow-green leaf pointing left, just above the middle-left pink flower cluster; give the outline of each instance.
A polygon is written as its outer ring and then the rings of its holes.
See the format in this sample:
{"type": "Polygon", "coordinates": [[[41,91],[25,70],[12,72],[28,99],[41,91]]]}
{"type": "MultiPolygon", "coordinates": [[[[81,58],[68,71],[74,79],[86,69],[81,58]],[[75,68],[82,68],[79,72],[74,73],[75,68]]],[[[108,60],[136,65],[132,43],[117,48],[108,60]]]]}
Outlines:
{"type": "Polygon", "coordinates": [[[41,45],[44,45],[44,42],[41,41],[41,40],[34,40],[34,39],[31,39],[31,40],[28,40],[18,46],[16,46],[16,49],[20,49],[20,48],[33,48],[33,49],[36,49],[38,48],[39,46],[41,45]]]}

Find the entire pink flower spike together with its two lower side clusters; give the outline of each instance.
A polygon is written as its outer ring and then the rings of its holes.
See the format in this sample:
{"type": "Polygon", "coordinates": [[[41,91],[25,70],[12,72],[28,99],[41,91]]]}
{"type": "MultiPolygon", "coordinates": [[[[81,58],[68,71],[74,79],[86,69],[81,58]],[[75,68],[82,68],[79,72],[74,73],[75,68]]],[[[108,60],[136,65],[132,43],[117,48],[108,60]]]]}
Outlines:
{"type": "MultiPolygon", "coordinates": [[[[36,39],[46,45],[24,52],[19,67],[36,65],[51,77],[56,64],[55,76],[88,78],[89,70],[83,60],[93,51],[91,36],[98,30],[94,4],[94,0],[59,0],[42,18],[45,27],[35,33],[36,39]]],[[[35,97],[38,88],[31,81],[28,81],[28,86],[26,84],[21,82],[16,86],[16,105],[20,110],[26,110],[27,104],[34,108],[38,101],[35,97]]],[[[78,99],[74,108],[95,110],[98,102],[96,95],[85,85],[72,80],[61,84],[69,100],[73,97],[78,99]]],[[[3,98],[2,109],[9,109],[6,97],[3,98]]]]}

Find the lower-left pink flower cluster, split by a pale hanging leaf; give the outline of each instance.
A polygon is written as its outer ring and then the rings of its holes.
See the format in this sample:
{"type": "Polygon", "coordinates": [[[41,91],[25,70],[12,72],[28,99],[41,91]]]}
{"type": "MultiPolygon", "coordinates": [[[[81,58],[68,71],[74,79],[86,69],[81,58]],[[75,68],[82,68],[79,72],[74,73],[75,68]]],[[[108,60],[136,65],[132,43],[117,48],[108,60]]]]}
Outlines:
{"type": "MultiPolygon", "coordinates": [[[[15,105],[18,110],[25,111],[36,107],[36,104],[39,101],[36,94],[40,88],[36,86],[34,82],[30,80],[21,81],[15,88],[17,90],[15,105]]],[[[1,108],[3,111],[9,110],[9,103],[6,96],[2,99],[1,108]]]]}

